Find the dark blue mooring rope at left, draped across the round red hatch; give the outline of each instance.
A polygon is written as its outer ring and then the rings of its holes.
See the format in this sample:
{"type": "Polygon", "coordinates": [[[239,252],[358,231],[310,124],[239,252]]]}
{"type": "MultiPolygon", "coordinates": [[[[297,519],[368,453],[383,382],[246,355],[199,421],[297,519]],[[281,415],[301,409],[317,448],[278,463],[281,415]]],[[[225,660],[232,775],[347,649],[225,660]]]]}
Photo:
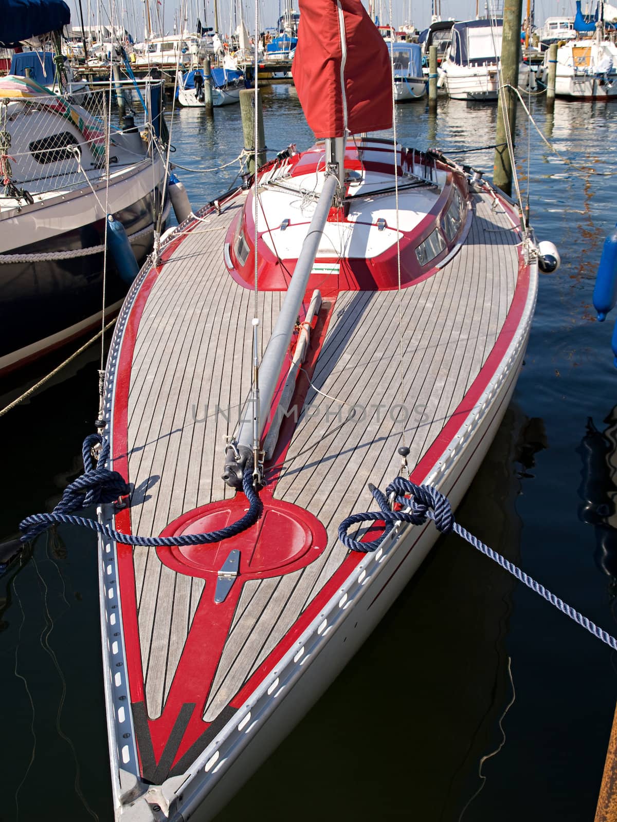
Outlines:
{"type": "Polygon", "coordinates": [[[99,434],[86,436],[81,455],[84,461],[84,473],[75,482],[68,485],[63,493],[63,498],[53,509],[51,514],[33,514],[26,517],[19,524],[21,530],[21,542],[26,543],[34,539],[39,533],[48,529],[50,525],[63,523],[69,525],[81,525],[97,533],[113,539],[116,543],[123,545],[138,545],[142,547],[165,547],[172,545],[202,545],[203,543],[220,543],[221,540],[234,537],[242,533],[251,525],[257,522],[262,513],[262,501],[257,496],[253,487],[252,469],[244,469],[242,487],[249,502],[247,513],[238,522],[227,525],[219,531],[209,533],[185,533],[177,537],[139,537],[132,533],[122,533],[110,528],[109,525],[102,525],[96,520],[88,520],[86,517],[72,516],[71,511],[86,508],[105,502],[114,502],[119,496],[130,492],[127,483],[124,482],[122,474],[118,471],[109,471],[104,468],[104,464],[109,459],[109,442],[104,440],[99,434]],[[96,443],[100,443],[101,450],[96,467],[93,464],[90,449],[96,443]]]}

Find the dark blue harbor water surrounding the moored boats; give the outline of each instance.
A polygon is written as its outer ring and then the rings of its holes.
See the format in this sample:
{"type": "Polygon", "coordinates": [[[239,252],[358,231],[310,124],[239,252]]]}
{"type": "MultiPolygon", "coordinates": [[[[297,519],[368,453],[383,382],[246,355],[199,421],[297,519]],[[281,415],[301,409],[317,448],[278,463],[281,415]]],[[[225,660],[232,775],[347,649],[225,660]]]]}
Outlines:
{"type": "MultiPolygon", "coordinates": [[[[262,90],[271,156],[312,143],[293,88],[262,90]]],[[[616,104],[519,106],[517,169],[540,239],[527,357],[457,520],[617,634],[617,369],[591,293],[617,220],[616,104]],[[541,135],[541,136],[540,136],[541,135]],[[544,139],[543,139],[544,138],[544,139]],[[550,145],[547,145],[547,142],[550,145]]],[[[234,182],[239,106],[167,113],[193,208],[234,182]]],[[[397,107],[397,139],[492,173],[496,107],[397,107]],[[481,150],[477,150],[481,149],[481,150]]],[[[221,254],[223,253],[221,247],[221,254]]],[[[107,336],[109,341],[109,335],[107,336]]],[[[77,348],[77,344],[74,345],[77,348]]],[[[71,352],[10,376],[3,407],[71,352]]],[[[81,472],[100,346],[0,418],[0,539],[81,472]]],[[[367,483],[370,477],[366,477],[367,483]]],[[[367,501],[369,495],[367,493],[367,501]]],[[[59,528],[0,580],[3,822],[111,822],[95,537],[59,528]]],[[[327,693],[217,822],[592,820],[617,700],[617,656],[473,547],[441,538],[327,693]]]]}

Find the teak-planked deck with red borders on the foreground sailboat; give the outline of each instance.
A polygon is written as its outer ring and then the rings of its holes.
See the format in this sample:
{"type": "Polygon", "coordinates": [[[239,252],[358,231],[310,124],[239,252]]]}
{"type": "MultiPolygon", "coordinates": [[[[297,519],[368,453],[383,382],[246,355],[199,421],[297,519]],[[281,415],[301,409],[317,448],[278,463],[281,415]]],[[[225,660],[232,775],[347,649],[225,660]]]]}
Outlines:
{"type": "MultiPolygon", "coordinates": [[[[225,231],[245,196],[183,224],[123,309],[107,374],[114,468],[133,488],[118,529],[198,532],[205,520],[190,524],[189,512],[220,503],[221,516],[237,518],[247,507],[220,476],[252,383],[254,294],[224,259],[225,231]]],[[[502,201],[474,194],[468,221],[457,252],[415,284],[324,297],[265,466],[271,508],[253,526],[262,532],[182,552],[112,547],[128,672],[118,693],[130,696],[138,753],[124,746],[121,768],[152,783],[189,768],[360,562],[336,530],[374,507],[367,483],[387,485],[403,445],[415,480],[424,480],[493,379],[491,363],[512,343],[531,286],[502,201]],[[296,510],[306,514],[308,547],[285,520],[296,510]],[[276,529],[289,544],[264,544],[276,529]],[[218,572],[234,548],[239,576],[216,603],[218,572]]],[[[258,293],[262,350],[284,297],[258,293]]]]}

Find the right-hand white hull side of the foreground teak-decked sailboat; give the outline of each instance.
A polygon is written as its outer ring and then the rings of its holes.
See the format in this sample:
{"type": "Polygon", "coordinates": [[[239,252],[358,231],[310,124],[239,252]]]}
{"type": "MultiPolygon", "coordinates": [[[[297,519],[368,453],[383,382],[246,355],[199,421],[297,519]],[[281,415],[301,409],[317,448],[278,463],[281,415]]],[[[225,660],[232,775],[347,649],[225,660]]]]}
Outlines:
{"type": "MultiPolygon", "coordinates": [[[[529,316],[531,318],[531,314],[529,316]]],[[[528,333],[529,326],[507,379],[497,389],[497,395],[494,395],[490,412],[485,414],[467,447],[448,466],[442,487],[452,503],[452,509],[462,501],[508,408],[522,367],[528,333]]],[[[264,688],[261,695],[239,709],[233,721],[220,733],[223,741],[219,742],[218,761],[222,760],[223,764],[216,773],[212,772],[213,769],[211,774],[204,773],[215,745],[206,749],[197,760],[191,772],[193,781],[184,782],[182,786],[183,818],[190,817],[192,822],[210,822],[225,807],[239,787],[267,760],[361,648],[420,568],[438,536],[432,522],[420,527],[412,525],[393,539],[389,547],[384,546],[383,555],[369,554],[366,557],[358,568],[360,573],[361,570],[367,572],[364,584],[357,583],[359,573],[356,572],[353,580],[348,580],[345,586],[345,589],[347,585],[355,589],[353,594],[348,593],[347,602],[351,601],[350,607],[339,607],[343,592],[341,589],[341,593],[336,595],[324,611],[323,616],[328,615],[328,625],[332,625],[327,639],[318,636],[319,623],[322,621],[320,617],[298,640],[288,657],[277,666],[280,671],[279,688],[286,683],[284,696],[276,698],[275,695],[267,695],[267,688],[264,688]],[[383,593],[375,598],[380,589],[383,593]],[[304,669],[300,667],[302,658],[294,662],[295,653],[302,647],[305,649],[303,657],[311,654],[310,662],[304,669]],[[247,735],[246,727],[239,732],[238,725],[249,711],[254,730],[247,735]],[[232,762],[233,768],[230,767],[232,762]],[[229,765],[225,767],[225,763],[229,765]]],[[[281,693],[281,690],[277,689],[273,694],[281,693]]],[[[403,730],[411,733],[412,727],[403,730]]],[[[136,817],[136,822],[141,822],[141,819],[148,820],[149,817],[136,817]]]]}

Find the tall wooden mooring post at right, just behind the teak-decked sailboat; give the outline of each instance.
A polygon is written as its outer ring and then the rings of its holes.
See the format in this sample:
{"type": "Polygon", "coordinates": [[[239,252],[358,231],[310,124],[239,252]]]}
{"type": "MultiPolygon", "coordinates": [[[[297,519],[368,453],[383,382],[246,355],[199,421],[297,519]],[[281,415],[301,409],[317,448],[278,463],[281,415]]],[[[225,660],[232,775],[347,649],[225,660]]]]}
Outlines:
{"type": "Polygon", "coordinates": [[[508,132],[514,143],[517,125],[518,63],[521,61],[522,0],[504,0],[503,37],[501,41],[500,81],[497,106],[497,135],[493,167],[493,182],[506,194],[512,193],[512,161],[508,145],[508,132]],[[505,86],[508,86],[506,88],[505,86]],[[509,87],[511,86],[511,88],[509,87]],[[505,112],[503,110],[505,104],[505,112]]]}

